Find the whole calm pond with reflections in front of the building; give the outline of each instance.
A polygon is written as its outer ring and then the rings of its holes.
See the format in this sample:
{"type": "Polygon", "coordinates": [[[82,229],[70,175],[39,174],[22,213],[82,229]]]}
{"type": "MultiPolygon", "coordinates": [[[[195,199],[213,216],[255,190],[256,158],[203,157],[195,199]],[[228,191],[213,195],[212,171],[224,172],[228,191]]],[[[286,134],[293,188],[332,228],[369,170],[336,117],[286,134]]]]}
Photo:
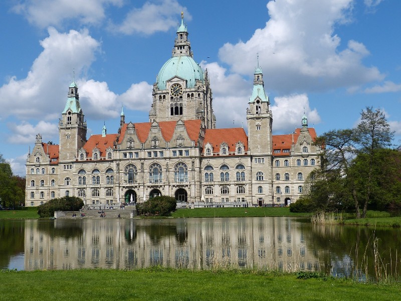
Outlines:
{"type": "Polygon", "coordinates": [[[401,230],[316,226],[293,217],[0,221],[0,269],[256,268],[391,275],[401,230]],[[384,270],[382,270],[383,272],[384,270]]]}

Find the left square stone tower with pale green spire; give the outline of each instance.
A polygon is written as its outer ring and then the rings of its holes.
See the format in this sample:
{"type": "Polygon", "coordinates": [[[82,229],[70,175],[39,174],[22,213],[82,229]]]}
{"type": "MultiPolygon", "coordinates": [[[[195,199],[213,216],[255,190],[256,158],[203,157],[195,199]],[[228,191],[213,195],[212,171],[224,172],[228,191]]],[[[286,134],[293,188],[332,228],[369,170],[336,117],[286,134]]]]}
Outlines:
{"type": "Polygon", "coordinates": [[[74,161],[86,142],[86,121],[79,103],[78,86],[73,79],[68,89],[66,106],[59,121],[60,162],[74,161]]]}

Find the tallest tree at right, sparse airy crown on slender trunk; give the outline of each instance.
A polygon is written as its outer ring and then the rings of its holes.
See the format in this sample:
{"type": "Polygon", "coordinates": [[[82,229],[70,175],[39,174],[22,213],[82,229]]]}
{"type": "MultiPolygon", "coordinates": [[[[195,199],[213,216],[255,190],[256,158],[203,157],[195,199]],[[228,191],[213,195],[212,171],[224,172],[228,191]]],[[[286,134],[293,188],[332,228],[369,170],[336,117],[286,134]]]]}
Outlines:
{"type": "Polygon", "coordinates": [[[365,181],[366,194],[363,203],[362,218],[366,216],[372,189],[373,158],[379,149],[390,146],[394,132],[380,109],[373,110],[366,107],[361,112],[361,121],[356,127],[355,141],[358,144],[358,152],[368,155],[367,178],[365,181]]]}

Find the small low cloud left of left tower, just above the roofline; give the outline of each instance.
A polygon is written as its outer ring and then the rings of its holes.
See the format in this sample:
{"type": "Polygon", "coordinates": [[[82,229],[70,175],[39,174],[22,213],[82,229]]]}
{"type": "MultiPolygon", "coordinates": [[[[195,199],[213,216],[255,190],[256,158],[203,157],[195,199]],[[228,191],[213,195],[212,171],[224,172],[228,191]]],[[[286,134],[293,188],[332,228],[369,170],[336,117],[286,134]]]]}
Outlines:
{"type": "Polygon", "coordinates": [[[58,136],[58,125],[46,121],[39,121],[36,125],[27,121],[21,124],[9,123],[8,127],[11,131],[8,141],[12,144],[31,144],[38,133],[44,137],[58,136]]]}

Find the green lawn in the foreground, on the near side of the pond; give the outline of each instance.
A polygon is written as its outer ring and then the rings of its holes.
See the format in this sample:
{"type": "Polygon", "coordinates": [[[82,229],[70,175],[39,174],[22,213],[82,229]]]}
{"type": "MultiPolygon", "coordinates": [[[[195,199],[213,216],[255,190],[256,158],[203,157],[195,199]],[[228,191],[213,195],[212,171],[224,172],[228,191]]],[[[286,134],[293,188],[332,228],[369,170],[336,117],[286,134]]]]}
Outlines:
{"type": "Polygon", "coordinates": [[[57,270],[0,272],[2,300],[396,300],[400,284],[256,271],[57,270]]]}

